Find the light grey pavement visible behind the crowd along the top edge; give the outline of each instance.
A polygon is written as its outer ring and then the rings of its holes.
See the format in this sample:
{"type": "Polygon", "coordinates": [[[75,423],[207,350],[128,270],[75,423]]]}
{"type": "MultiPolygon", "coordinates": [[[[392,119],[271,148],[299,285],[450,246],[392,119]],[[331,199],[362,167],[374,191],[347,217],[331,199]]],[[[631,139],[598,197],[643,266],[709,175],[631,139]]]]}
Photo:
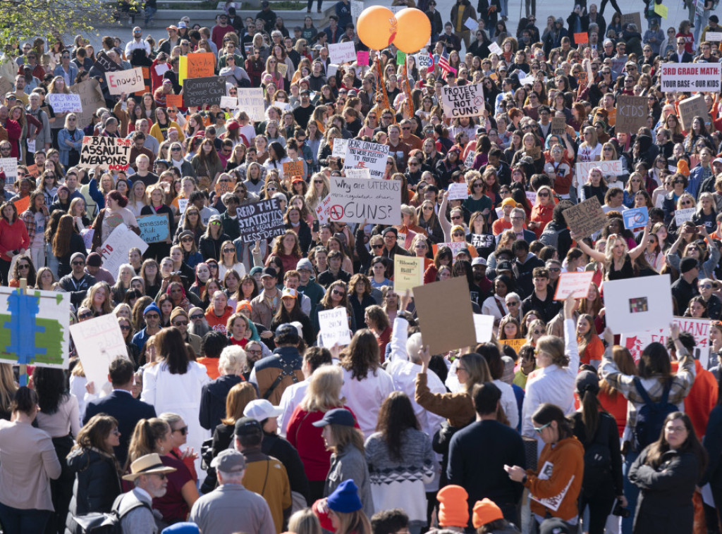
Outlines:
{"type": "MultiPolygon", "coordinates": [[[[333,0],[325,0],[323,2],[323,6],[326,7],[329,4],[329,1],[333,0]]],[[[365,3],[366,6],[370,5],[380,5],[380,6],[391,6],[392,0],[377,0],[377,1],[367,1],[365,3]]],[[[474,5],[474,9],[476,9],[476,4],[478,0],[471,0],[472,5],[474,5]]],[[[588,5],[591,5],[593,2],[591,0],[587,0],[588,5]]],[[[624,1],[619,0],[619,3],[621,4],[622,8],[629,5],[634,4],[635,10],[630,9],[630,13],[634,11],[641,12],[643,10],[644,4],[641,0],[632,0],[632,1],[624,1]]],[[[316,2],[314,2],[316,4],[316,2]]],[[[448,20],[449,14],[451,14],[451,7],[455,4],[455,0],[437,0],[436,9],[442,14],[442,19],[444,22],[448,20]]],[[[596,4],[599,6],[601,5],[601,1],[597,1],[596,4]]],[[[684,9],[682,6],[682,0],[664,0],[664,4],[668,6],[669,18],[662,19],[661,28],[662,30],[666,30],[666,28],[670,26],[674,26],[675,28],[679,27],[679,23],[682,22],[682,20],[687,19],[688,12],[687,9],[684,9]]],[[[314,6],[315,7],[315,6],[314,6]]],[[[508,20],[506,21],[507,28],[510,31],[512,35],[516,34],[516,28],[519,24],[519,19],[521,16],[524,15],[524,1],[523,0],[508,0],[508,20]]],[[[562,17],[562,19],[567,19],[569,14],[574,9],[574,1],[573,0],[536,0],[536,27],[539,28],[540,33],[543,32],[544,26],[547,24],[547,17],[553,16],[553,17],[562,17]]],[[[305,11],[305,10],[304,10],[305,11]]],[[[612,4],[608,3],[606,4],[606,7],[604,9],[604,18],[606,19],[607,23],[612,19],[612,13],[614,12],[614,9],[612,8],[612,4]]],[[[279,12],[279,14],[282,14],[283,12],[279,12]]],[[[626,13],[626,12],[625,12],[626,13]]],[[[178,12],[178,19],[180,19],[184,15],[188,15],[188,17],[191,17],[191,25],[193,24],[193,12],[178,12]]],[[[304,13],[305,14],[305,13],[304,13]]],[[[321,15],[316,14],[316,10],[313,10],[312,16],[316,20],[316,17],[321,17],[321,15]]],[[[136,17],[136,24],[139,23],[139,25],[142,27],[143,19],[142,17],[136,17]]],[[[644,17],[642,17],[642,25],[643,28],[641,28],[641,32],[644,33],[645,30],[647,30],[646,27],[646,20],[644,17]]],[[[318,27],[318,25],[317,25],[318,27]]],[[[116,27],[100,27],[97,29],[97,35],[88,35],[88,38],[90,39],[90,43],[95,47],[96,50],[100,47],[100,38],[103,35],[118,35],[123,40],[129,40],[131,38],[131,30],[132,26],[128,25],[127,20],[123,21],[122,25],[116,26],[116,27]]],[[[165,31],[165,25],[158,25],[157,27],[152,28],[144,28],[143,29],[143,35],[152,35],[155,40],[160,40],[162,38],[168,37],[168,33],[165,31]]],[[[66,42],[70,43],[72,41],[72,37],[67,38],[66,42]]]]}

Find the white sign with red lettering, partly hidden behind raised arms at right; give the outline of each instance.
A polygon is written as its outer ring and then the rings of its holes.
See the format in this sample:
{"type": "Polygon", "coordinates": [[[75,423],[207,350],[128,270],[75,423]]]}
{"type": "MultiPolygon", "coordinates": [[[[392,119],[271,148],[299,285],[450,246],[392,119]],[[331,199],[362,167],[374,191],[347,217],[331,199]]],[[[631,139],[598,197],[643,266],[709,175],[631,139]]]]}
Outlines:
{"type": "MultiPolygon", "coordinates": [[[[719,363],[717,354],[710,359],[710,320],[695,319],[691,317],[675,317],[674,323],[679,325],[680,332],[688,332],[695,338],[695,348],[692,349],[692,356],[700,360],[704,369],[712,369],[719,363]]],[[[649,343],[657,342],[666,344],[669,337],[669,325],[658,325],[658,328],[645,332],[623,333],[619,344],[627,347],[632,358],[637,362],[642,351],[649,343]]]]}

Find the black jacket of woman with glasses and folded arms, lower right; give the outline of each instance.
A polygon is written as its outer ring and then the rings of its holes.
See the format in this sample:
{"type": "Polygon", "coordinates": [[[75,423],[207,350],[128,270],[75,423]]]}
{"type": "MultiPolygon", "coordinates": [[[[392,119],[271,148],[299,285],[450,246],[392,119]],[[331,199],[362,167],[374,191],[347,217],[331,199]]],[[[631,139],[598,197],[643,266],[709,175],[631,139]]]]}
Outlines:
{"type": "Polygon", "coordinates": [[[692,495],[700,478],[700,464],[694,452],[669,450],[658,468],[644,465],[649,447],[632,463],[630,481],[641,492],[634,517],[635,534],[692,532],[695,507],[692,495]]]}

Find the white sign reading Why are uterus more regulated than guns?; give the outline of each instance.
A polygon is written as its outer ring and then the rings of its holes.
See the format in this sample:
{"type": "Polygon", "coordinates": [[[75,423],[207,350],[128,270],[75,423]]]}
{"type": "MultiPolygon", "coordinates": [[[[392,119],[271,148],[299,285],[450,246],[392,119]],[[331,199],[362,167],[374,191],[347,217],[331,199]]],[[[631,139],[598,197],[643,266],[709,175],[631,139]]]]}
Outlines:
{"type": "Polygon", "coordinates": [[[331,176],[329,220],[401,223],[401,182],[331,176]]]}

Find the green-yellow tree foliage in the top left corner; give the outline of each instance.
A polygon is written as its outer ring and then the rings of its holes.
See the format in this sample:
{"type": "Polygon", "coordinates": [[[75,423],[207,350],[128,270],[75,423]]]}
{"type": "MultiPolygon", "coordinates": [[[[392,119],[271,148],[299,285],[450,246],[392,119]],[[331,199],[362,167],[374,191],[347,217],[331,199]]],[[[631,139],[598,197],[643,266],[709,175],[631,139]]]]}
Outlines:
{"type": "Polygon", "coordinates": [[[0,45],[95,32],[117,23],[117,5],[103,0],[0,0],[0,45]]]}

